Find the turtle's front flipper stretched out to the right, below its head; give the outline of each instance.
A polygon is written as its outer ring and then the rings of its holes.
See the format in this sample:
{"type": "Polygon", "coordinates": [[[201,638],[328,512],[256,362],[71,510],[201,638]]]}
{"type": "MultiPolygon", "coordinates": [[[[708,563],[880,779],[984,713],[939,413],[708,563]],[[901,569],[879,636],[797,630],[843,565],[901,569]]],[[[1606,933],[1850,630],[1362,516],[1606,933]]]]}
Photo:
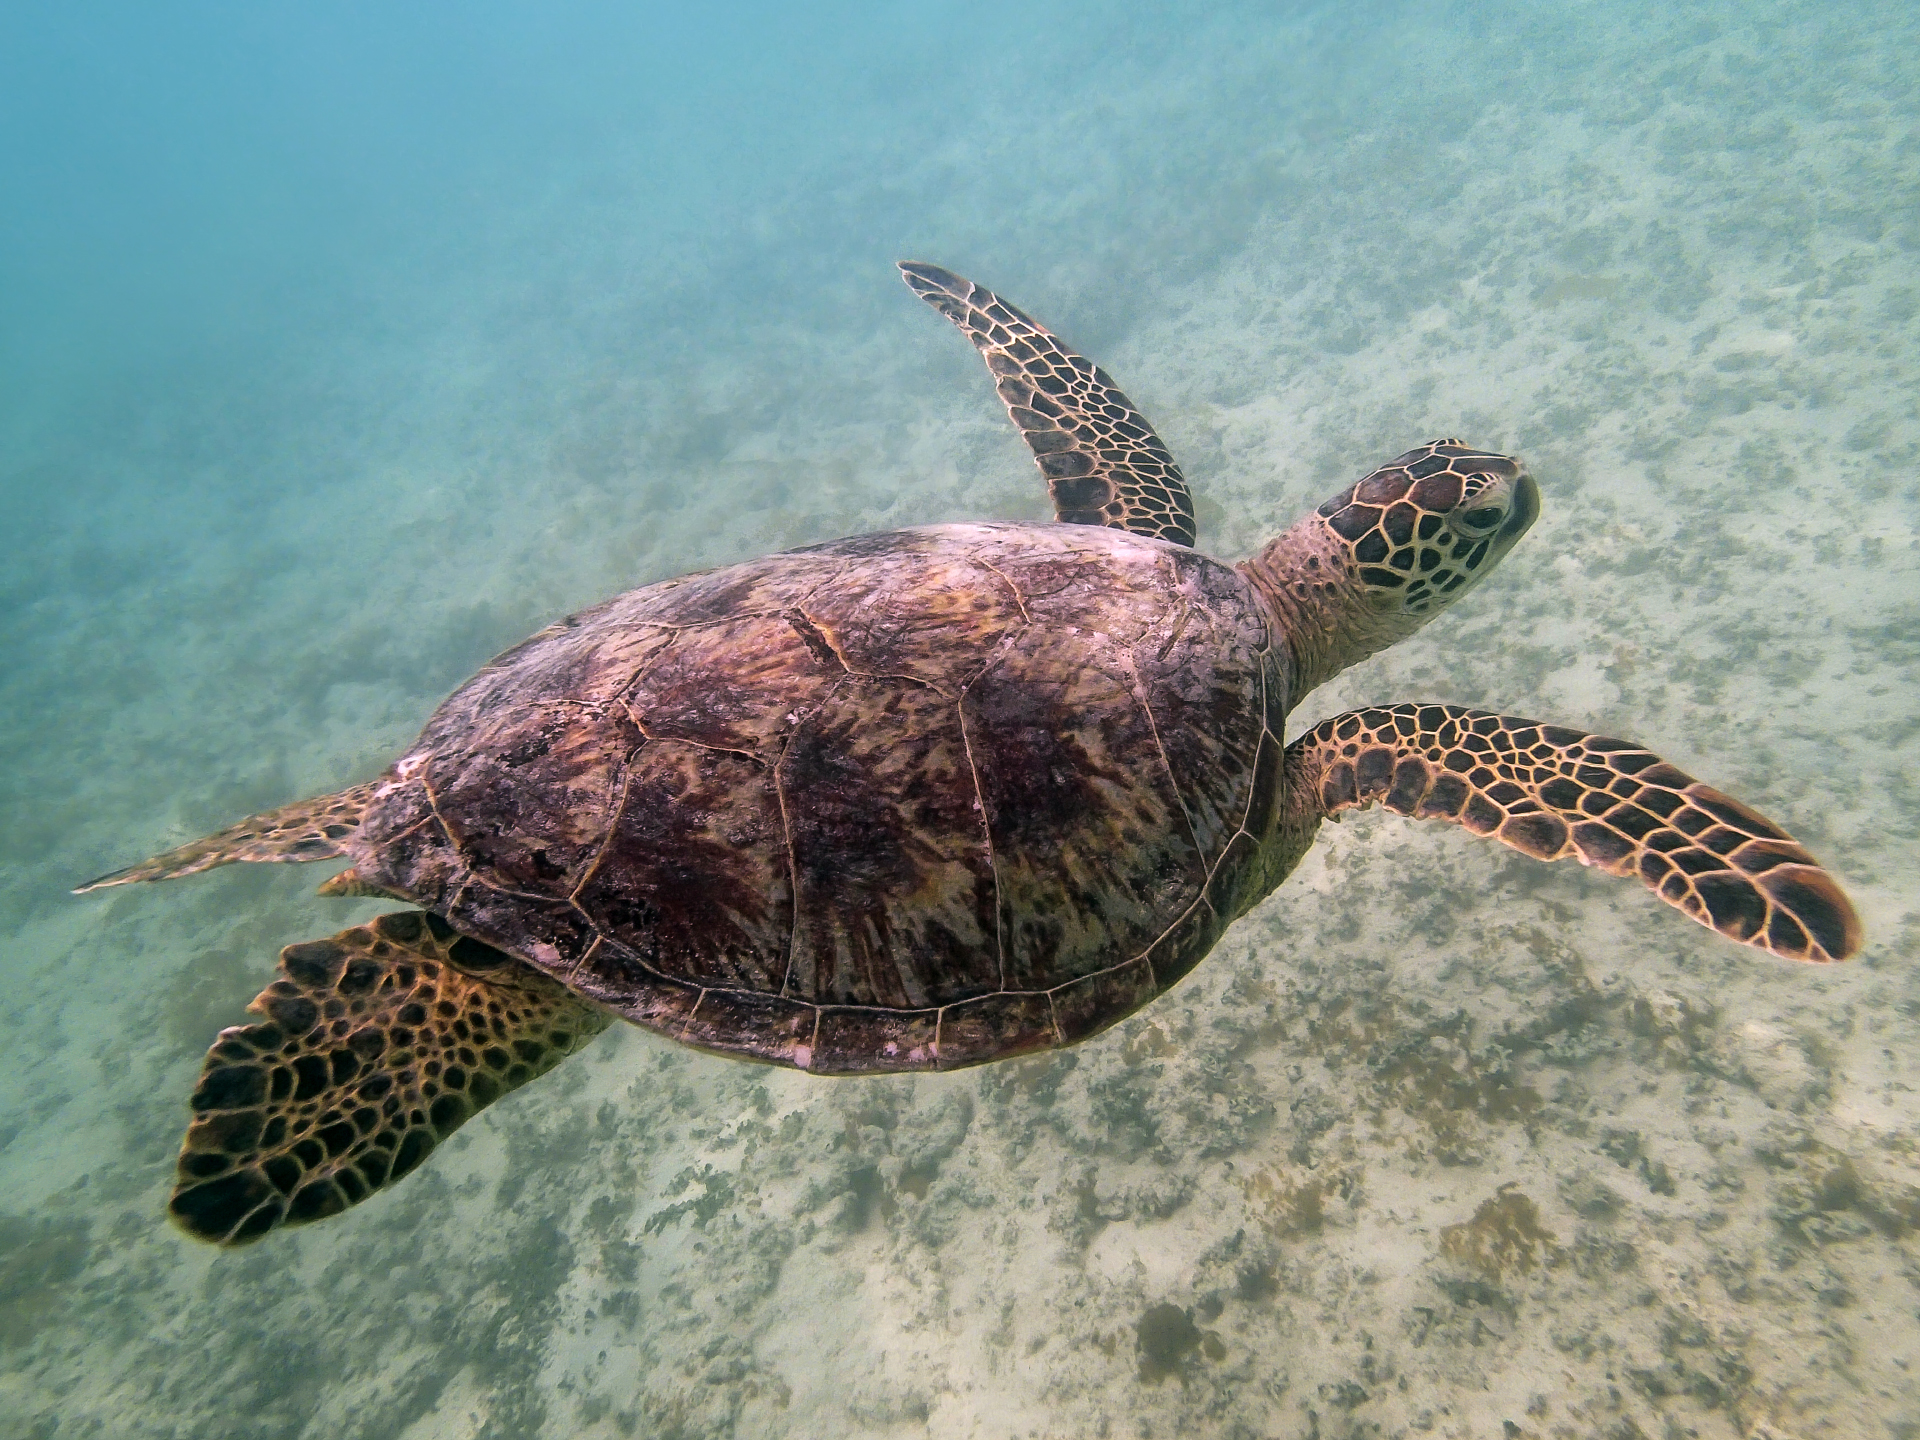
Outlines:
{"type": "Polygon", "coordinates": [[[1350,710],[1286,747],[1286,789],[1296,816],[1380,801],[1536,860],[1638,877],[1730,941],[1788,960],[1860,948],[1853,904],[1784,829],[1624,739],[1457,705],[1350,710]]]}

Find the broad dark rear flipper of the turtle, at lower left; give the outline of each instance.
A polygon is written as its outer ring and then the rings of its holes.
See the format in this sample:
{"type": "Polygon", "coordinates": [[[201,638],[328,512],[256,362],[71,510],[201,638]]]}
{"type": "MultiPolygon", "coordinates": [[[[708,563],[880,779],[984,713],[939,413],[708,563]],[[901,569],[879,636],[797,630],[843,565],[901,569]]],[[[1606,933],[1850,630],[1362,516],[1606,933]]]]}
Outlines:
{"type": "Polygon", "coordinates": [[[290,945],[248,1008],[265,1021],[207,1050],[167,1204],[215,1244],[359,1204],[611,1023],[420,912],[290,945]]]}

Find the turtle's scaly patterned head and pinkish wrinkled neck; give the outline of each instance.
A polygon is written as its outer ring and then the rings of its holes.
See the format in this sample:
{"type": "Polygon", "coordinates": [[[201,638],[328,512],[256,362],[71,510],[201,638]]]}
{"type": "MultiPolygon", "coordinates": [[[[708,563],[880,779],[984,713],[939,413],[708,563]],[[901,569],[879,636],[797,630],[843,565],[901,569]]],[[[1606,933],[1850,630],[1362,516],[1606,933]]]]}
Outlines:
{"type": "Polygon", "coordinates": [[[1413,634],[1540,518],[1507,455],[1436,440],[1388,461],[1246,563],[1294,647],[1294,697],[1413,634]]]}

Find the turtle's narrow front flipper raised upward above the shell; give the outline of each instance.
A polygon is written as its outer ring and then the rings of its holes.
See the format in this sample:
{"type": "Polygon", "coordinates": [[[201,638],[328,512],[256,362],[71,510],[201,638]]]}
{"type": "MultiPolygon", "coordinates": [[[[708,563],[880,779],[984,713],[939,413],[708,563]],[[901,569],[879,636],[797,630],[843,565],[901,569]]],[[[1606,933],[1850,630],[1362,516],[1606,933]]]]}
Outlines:
{"type": "Polygon", "coordinates": [[[900,275],[987,357],[1006,413],[1046,476],[1056,518],[1194,543],[1181,467],[1106,371],[952,271],[900,261],[900,275]]]}

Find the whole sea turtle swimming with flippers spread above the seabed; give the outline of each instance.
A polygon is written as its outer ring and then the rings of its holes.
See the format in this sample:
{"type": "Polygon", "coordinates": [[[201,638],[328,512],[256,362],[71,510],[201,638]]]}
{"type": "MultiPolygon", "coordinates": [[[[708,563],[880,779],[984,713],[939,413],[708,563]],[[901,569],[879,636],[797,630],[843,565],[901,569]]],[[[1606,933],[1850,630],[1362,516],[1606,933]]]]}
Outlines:
{"type": "MultiPolygon", "coordinates": [[[[1728,939],[1841,960],[1860,924],[1786,831],[1626,741],[1300,699],[1465,595],[1534,522],[1436,440],[1265,549],[1192,549],[1179,467],[1104,371],[933,265],[1060,524],[856,536],[566,616],[384,774],[84,885],[230,860],[419,906],[280,952],[192,1096],[173,1217],[332,1215],[612,1020],[822,1075],[1073,1044],[1185,975],[1375,801],[1638,877],[1728,939]]],[[[1350,899],[1357,904],[1357,899],[1350,899]]]]}

